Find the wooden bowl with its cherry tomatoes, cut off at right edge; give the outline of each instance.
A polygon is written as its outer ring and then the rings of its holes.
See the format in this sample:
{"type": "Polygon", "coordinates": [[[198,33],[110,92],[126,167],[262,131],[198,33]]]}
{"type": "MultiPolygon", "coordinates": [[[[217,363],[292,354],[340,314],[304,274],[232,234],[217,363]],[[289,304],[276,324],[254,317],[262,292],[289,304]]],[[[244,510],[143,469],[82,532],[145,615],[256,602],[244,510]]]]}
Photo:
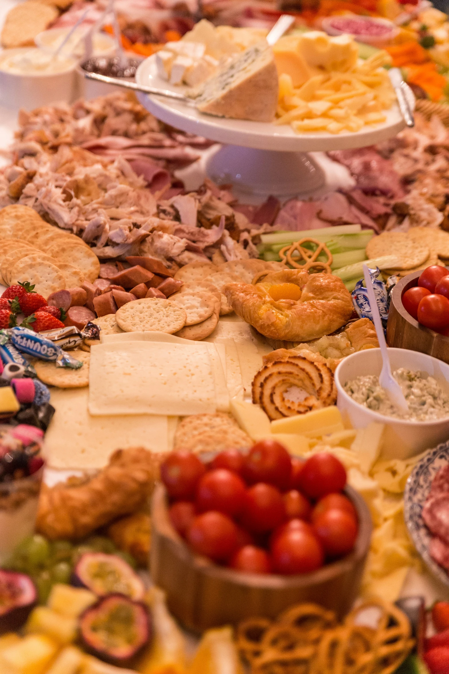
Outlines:
{"type": "Polygon", "coordinates": [[[449,268],[431,265],[401,278],[391,293],[386,340],[449,363],[449,268]]]}

